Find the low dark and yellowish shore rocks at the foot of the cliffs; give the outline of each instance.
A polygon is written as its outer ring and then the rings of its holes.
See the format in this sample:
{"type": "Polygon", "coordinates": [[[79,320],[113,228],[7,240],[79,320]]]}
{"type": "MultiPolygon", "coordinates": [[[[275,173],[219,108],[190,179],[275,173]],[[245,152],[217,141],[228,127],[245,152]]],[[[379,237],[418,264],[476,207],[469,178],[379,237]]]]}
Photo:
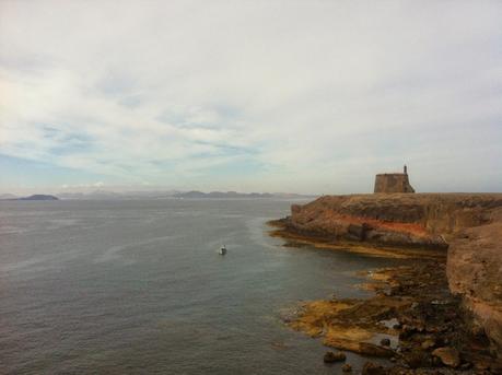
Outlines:
{"type": "Polygon", "coordinates": [[[373,270],[367,276],[374,281],[374,296],[310,302],[287,324],[322,337],[328,347],[387,358],[393,362],[385,370],[389,375],[429,375],[436,367],[442,367],[443,374],[469,367],[502,373],[502,364],[488,352],[482,331],[472,336],[466,330],[458,313],[460,298],[452,296],[447,289],[444,263],[420,260],[406,267],[373,270]],[[393,295],[380,293],[389,285],[396,291],[393,295]],[[382,341],[383,336],[390,339],[390,347],[382,341]]]}

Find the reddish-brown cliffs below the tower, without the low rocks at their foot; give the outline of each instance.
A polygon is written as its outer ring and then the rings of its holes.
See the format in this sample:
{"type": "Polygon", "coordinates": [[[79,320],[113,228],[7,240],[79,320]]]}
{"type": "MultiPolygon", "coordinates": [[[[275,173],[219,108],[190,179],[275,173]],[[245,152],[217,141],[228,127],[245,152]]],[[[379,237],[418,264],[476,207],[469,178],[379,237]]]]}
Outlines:
{"type": "Polygon", "coordinates": [[[325,196],[285,231],[324,241],[443,248],[448,284],[502,352],[502,194],[325,196]]]}

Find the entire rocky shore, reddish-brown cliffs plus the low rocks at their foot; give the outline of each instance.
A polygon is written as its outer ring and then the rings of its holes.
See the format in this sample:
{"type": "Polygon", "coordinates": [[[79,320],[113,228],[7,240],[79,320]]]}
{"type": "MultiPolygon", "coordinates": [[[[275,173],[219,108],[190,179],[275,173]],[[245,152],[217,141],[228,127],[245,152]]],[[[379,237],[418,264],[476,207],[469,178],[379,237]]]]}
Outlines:
{"type": "Polygon", "coordinates": [[[291,216],[270,222],[287,245],[413,260],[369,272],[362,286],[373,297],[310,302],[287,324],[328,347],[393,362],[367,363],[363,374],[500,374],[501,219],[502,195],[341,196],[293,206],[291,216]]]}

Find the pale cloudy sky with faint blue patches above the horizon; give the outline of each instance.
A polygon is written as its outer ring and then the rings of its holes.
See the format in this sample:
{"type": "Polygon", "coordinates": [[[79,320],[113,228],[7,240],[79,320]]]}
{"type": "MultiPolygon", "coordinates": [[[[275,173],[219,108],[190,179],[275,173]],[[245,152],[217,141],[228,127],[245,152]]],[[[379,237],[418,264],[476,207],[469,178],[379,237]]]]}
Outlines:
{"type": "Polygon", "coordinates": [[[502,1],[0,0],[0,192],[502,191],[502,1]]]}

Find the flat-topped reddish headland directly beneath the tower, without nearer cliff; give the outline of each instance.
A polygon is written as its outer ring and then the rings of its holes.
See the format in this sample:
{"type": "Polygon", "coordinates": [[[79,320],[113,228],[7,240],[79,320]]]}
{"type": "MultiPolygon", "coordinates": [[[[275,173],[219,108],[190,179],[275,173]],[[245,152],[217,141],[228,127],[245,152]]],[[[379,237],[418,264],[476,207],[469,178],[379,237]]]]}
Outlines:
{"type": "Polygon", "coordinates": [[[304,206],[293,204],[288,225],[290,230],[337,239],[343,239],[347,233],[364,239],[371,232],[381,231],[407,235],[404,245],[416,245],[417,241],[447,247],[443,236],[489,224],[491,210],[501,207],[502,195],[495,194],[323,196],[304,206]]]}

